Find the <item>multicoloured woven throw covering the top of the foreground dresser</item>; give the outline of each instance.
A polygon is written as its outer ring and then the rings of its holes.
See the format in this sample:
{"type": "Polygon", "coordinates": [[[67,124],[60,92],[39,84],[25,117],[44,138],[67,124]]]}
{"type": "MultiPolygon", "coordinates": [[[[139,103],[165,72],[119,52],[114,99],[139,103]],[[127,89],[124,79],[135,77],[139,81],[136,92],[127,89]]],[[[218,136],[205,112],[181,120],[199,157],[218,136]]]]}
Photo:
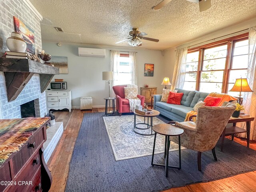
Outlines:
{"type": "Polygon", "coordinates": [[[0,120],[0,166],[42,126],[49,117],[0,120]]]}

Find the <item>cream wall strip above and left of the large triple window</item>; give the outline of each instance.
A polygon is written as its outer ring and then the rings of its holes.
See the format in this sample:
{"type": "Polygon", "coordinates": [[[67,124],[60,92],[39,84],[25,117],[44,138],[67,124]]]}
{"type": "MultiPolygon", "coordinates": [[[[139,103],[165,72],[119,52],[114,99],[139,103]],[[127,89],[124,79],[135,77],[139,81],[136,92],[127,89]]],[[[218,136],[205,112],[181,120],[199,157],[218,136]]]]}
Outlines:
{"type": "MultiPolygon", "coordinates": [[[[165,75],[169,76],[171,78],[173,76],[174,65],[175,65],[175,56],[176,56],[175,50],[184,48],[184,47],[189,47],[189,46],[191,46],[190,48],[193,48],[193,47],[200,46],[203,44],[208,44],[211,42],[222,40],[222,39],[228,38],[230,36],[243,34],[243,33],[248,32],[248,30],[246,30],[246,29],[248,29],[252,26],[256,26],[256,18],[253,18],[253,19],[247,20],[245,22],[224,28],[224,29],[216,31],[216,32],[212,32],[211,34],[202,36],[201,38],[198,38],[198,39],[188,42],[186,44],[182,44],[180,46],[176,46],[176,47],[164,50],[164,68],[166,69],[165,75]],[[246,30],[246,31],[242,31],[242,30],[246,30]],[[239,31],[242,31],[242,32],[239,32],[239,31]],[[238,33],[236,33],[236,32],[238,32],[238,33]],[[236,33],[236,34],[232,34],[232,33],[236,33]],[[228,35],[228,34],[231,34],[231,35],[228,35]],[[228,35],[228,36],[226,36],[226,35],[228,35]],[[222,36],[224,36],[224,37],[222,37],[222,36]],[[214,40],[212,40],[212,39],[214,39],[214,40]],[[208,41],[208,40],[211,40],[211,41],[208,41]],[[208,41],[208,42],[205,42],[205,41],[208,41]],[[201,43],[201,42],[203,42],[203,43],[201,43]],[[195,45],[195,46],[193,46],[193,45],[195,45]]],[[[171,79],[170,79],[170,81],[171,81],[171,79]]]]}

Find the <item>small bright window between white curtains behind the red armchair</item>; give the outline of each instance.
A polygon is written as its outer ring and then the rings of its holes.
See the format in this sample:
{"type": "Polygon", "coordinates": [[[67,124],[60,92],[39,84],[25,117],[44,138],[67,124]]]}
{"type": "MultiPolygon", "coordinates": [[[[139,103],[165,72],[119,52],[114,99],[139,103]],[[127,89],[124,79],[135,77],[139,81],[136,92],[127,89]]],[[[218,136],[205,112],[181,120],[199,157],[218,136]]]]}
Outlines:
{"type": "Polygon", "coordinates": [[[117,60],[117,81],[119,85],[132,84],[132,65],[129,54],[120,54],[117,60]]]}

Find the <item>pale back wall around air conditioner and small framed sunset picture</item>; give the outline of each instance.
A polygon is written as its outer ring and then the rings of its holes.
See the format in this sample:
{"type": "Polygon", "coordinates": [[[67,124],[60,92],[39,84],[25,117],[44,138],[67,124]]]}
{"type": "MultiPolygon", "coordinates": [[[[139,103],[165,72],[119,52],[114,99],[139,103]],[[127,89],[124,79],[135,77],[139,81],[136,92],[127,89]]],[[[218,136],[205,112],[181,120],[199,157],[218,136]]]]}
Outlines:
{"type": "MultiPolygon", "coordinates": [[[[164,56],[159,50],[115,48],[93,46],[85,44],[62,44],[56,42],[42,42],[43,49],[52,56],[68,57],[68,74],[55,75],[54,78],[63,78],[68,82],[68,89],[72,90],[72,106],[79,107],[81,96],[92,96],[92,105],[105,106],[104,97],[108,96],[108,84],[102,80],[102,71],[109,71],[110,50],[136,51],[138,64],[138,89],[148,84],[158,87],[158,94],[162,92],[161,85],[164,78],[164,56]],[[106,49],[106,57],[79,57],[78,47],[106,49]],[[154,76],[144,77],[144,64],[154,64],[154,76]]],[[[53,81],[54,81],[53,78],[53,81]]],[[[139,91],[140,93],[140,91],[139,91]]]]}

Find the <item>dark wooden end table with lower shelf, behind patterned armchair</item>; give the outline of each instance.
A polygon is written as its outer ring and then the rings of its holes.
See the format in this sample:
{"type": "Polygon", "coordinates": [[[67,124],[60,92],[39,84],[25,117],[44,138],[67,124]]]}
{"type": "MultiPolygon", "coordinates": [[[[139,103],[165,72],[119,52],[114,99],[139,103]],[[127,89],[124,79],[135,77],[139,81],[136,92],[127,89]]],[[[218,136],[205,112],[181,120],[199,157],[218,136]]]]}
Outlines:
{"type": "Polygon", "coordinates": [[[251,128],[251,121],[254,120],[254,117],[246,117],[246,118],[235,118],[231,117],[228,123],[233,123],[232,127],[226,127],[222,132],[222,143],[221,143],[221,151],[223,151],[224,146],[224,139],[226,135],[232,135],[232,140],[234,140],[234,134],[236,133],[247,133],[247,147],[249,147],[250,141],[250,128],[251,128]],[[236,126],[238,122],[246,122],[246,130],[236,126]]]}

